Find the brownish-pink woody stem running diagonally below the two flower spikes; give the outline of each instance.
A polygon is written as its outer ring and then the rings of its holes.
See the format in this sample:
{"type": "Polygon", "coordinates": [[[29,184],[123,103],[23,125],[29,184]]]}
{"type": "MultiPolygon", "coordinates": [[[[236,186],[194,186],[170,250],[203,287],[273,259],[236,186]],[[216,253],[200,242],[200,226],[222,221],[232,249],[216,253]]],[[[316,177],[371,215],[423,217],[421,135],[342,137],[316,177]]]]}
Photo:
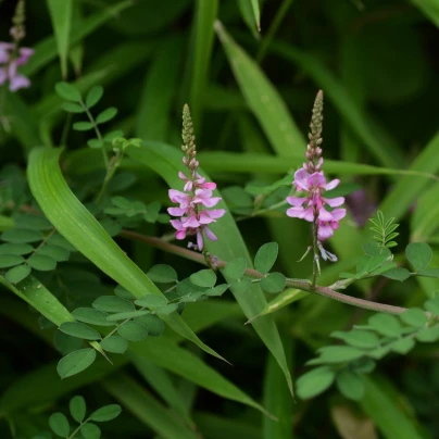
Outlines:
{"type": "MultiPolygon", "coordinates": [[[[141,235],[136,231],[126,230],[126,229],[122,230],[121,236],[128,238],[128,239],[134,239],[137,241],[149,243],[150,246],[153,246],[153,247],[161,249],[163,251],[166,251],[168,253],[173,253],[173,254],[186,258],[190,261],[198,262],[202,265],[208,265],[204,260],[204,256],[202,254],[195,252],[192,250],[189,250],[189,249],[174,246],[173,243],[170,243],[170,242],[165,242],[160,238],[141,235]]],[[[225,262],[225,261],[218,261],[217,267],[222,268],[226,264],[227,264],[227,262],[225,262]]],[[[249,276],[255,277],[255,278],[265,277],[265,275],[263,275],[262,273],[260,273],[253,268],[247,268],[246,274],[249,276]]],[[[326,297],[328,299],[337,300],[338,302],[347,303],[349,305],[353,305],[353,306],[358,306],[358,308],[363,308],[363,309],[369,310],[369,311],[377,311],[377,312],[384,312],[384,313],[389,313],[389,314],[402,314],[403,312],[406,311],[405,308],[388,305],[385,303],[377,303],[377,302],[373,302],[369,300],[358,299],[358,298],[353,298],[351,296],[342,294],[340,292],[334,291],[329,287],[321,287],[318,285],[315,285],[313,287],[312,283],[310,283],[310,280],[308,280],[308,279],[287,278],[287,286],[293,287],[293,288],[302,290],[302,291],[313,292],[318,296],[326,297]]]]}

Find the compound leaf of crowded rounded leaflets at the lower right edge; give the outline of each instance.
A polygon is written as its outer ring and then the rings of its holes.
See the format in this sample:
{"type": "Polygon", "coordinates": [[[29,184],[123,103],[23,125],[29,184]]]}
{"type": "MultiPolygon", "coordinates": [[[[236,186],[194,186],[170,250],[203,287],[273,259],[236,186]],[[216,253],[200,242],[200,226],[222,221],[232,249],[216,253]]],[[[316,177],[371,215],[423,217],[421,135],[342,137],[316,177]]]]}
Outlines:
{"type": "Polygon", "coordinates": [[[361,400],[364,396],[362,375],[374,369],[375,361],[392,352],[405,355],[416,341],[439,340],[439,297],[428,300],[424,309],[413,308],[399,316],[375,314],[368,318],[367,325],[333,333],[331,337],[346,344],[318,349],[319,356],[308,364],[319,367],[298,379],[299,397],[315,397],[328,389],[335,379],[346,398],[361,400]]]}

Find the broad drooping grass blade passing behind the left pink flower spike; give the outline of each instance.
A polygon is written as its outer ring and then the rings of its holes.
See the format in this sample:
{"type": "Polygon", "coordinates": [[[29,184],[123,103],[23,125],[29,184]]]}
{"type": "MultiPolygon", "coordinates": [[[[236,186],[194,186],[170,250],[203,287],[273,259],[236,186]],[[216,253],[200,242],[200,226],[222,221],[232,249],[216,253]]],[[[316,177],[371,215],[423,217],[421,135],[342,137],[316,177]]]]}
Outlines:
{"type": "MultiPolygon", "coordinates": [[[[181,180],[178,178],[178,171],[183,171],[181,152],[164,143],[147,142],[142,148],[128,150],[131,159],[137,160],[145,166],[150,167],[161,175],[172,188],[180,188],[181,180]]],[[[216,195],[220,195],[216,191],[216,195]]],[[[209,242],[208,248],[212,254],[225,261],[236,258],[246,258],[249,266],[251,260],[239,229],[228,212],[227,205],[222,201],[218,209],[226,209],[226,215],[214,224],[214,234],[218,237],[216,242],[209,242]]],[[[235,294],[248,318],[259,314],[266,305],[264,293],[258,285],[252,286],[248,293],[235,294]]],[[[286,362],[284,347],[277,331],[276,324],[271,316],[256,319],[253,327],[262,341],[275,356],[287,379],[288,387],[292,393],[292,380],[286,362]]]]}

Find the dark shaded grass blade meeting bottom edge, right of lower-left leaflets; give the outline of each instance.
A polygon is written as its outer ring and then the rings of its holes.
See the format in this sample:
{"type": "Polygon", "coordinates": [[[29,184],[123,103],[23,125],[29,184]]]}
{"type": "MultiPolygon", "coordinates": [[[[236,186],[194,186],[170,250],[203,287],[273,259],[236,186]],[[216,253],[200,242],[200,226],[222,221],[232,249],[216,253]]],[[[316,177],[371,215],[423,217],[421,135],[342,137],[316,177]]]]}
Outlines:
{"type": "Polygon", "coordinates": [[[163,439],[197,439],[195,431],[178,422],[172,412],[152,394],[125,374],[102,381],[109,391],[126,410],[141,423],[148,425],[163,439]]]}

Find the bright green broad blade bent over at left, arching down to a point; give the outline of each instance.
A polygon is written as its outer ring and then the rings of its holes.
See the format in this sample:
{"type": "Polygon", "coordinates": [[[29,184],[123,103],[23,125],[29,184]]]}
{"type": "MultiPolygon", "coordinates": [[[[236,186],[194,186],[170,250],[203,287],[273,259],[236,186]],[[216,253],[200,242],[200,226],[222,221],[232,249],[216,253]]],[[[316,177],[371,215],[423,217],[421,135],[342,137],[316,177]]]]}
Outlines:
{"type": "MultiPolygon", "coordinates": [[[[139,149],[131,148],[127,151],[130,150],[139,149]]],[[[68,189],[59,165],[60,152],[57,149],[37,148],[29,154],[27,176],[30,190],[46,216],[78,251],[134,296],[162,296],[149,277],[111,239],[68,189]]],[[[193,334],[178,313],[164,319],[176,333],[211,355],[222,359],[193,334]]]]}

